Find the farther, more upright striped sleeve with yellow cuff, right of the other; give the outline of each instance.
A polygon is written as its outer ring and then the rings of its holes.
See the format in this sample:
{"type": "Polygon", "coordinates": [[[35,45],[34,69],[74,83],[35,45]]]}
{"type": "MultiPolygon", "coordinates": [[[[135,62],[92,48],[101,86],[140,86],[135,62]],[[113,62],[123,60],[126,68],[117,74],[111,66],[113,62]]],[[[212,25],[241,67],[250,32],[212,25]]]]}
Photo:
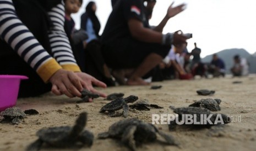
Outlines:
{"type": "Polygon", "coordinates": [[[64,3],[58,4],[48,12],[53,27],[48,32],[53,57],[58,61],[62,68],[69,71],[80,72],[80,68],[74,59],[69,39],[64,31],[64,3]]]}

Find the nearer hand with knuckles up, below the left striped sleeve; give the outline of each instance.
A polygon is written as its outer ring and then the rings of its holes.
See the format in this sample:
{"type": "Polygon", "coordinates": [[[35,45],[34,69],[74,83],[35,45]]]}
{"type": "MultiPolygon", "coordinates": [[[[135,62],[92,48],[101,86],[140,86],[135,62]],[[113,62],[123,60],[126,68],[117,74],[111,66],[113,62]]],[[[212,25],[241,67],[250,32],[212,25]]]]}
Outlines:
{"type": "Polygon", "coordinates": [[[72,71],[59,69],[50,78],[52,92],[55,95],[65,94],[68,97],[81,97],[83,83],[81,78],[72,71]]]}

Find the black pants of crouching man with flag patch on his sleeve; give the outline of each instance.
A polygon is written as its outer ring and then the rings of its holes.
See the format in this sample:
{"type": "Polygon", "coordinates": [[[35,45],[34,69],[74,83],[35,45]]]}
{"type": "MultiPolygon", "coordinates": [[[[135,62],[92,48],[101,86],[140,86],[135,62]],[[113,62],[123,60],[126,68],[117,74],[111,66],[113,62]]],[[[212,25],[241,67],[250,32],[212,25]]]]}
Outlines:
{"type": "Polygon", "coordinates": [[[164,58],[170,48],[170,45],[145,43],[127,37],[102,44],[102,54],[113,69],[137,68],[149,54],[155,53],[164,58]]]}

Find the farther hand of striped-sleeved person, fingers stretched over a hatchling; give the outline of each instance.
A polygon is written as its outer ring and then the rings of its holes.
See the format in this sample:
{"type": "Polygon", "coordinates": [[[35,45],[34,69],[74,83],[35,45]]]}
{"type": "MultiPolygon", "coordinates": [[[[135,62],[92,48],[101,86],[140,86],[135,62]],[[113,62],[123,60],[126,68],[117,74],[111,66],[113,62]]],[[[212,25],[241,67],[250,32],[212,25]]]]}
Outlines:
{"type": "MultiPolygon", "coordinates": [[[[97,91],[96,89],[93,88],[92,84],[96,86],[100,86],[101,88],[106,88],[107,85],[103,82],[100,82],[99,80],[95,79],[91,75],[84,73],[84,72],[75,72],[78,77],[82,80],[81,84],[83,85],[83,88],[93,92],[94,94],[99,94],[101,97],[106,97],[107,95],[97,91]]],[[[92,99],[89,98],[89,102],[91,102],[92,99]]]]}

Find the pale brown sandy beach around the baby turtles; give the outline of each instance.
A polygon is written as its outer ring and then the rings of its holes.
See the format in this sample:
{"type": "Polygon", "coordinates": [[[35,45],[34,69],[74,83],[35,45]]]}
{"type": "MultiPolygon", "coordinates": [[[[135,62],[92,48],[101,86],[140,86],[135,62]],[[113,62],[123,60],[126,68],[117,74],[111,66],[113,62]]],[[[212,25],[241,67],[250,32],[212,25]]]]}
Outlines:
{"type": "MultiPolygon", "coordinates": [[[[151,123],[152,114],[173,114],[169,106],[187,107],[201,98],[220,98],[221,111],[234,121],[221,128],[190,130],[178,127],[176,131],[169,131],[167,125],[156,125],[179,142],[180,147],[167,146],[154,142],[143,144],[138,150],[256,150],[256,75],[241,78],[196,78],[194,80],[168,80],[151,85],[162,85],[161,89],[151,90],[150,86],[116,86],[100,89],[106,94],[123,92],[125,96],[135,95],[140,99],[147,99],[150,103],[158,104],[163,109],[137,111],[130,109],[128,118],[139,118],[151,123]],[[233,84],[235,81],[242,83],[233,84]],[[198,89],[215,90],[212,96],[200,96],[198,89]],[[241,117],[241,121],[237,121],[241,117]]],[[[17,107],[21,109],[36,109],[40,114],[28,115],[19,125],[0,123],[0,150],[25,150],[37,139],[36,131],[43,127],[72,126],[78,114],[88,113],[86,129],[94,133],[94,143],[90,148],[55,149],[43,146],[41,150],[129,150],[117,140],[97,139],[97,134],[108,130],[108,127],[124,119],[110,118],[99,113],[100,108],[110,102],[104,98],[95,98],[92,103],[79,103],[79,98],[55,96],[48,94],[21,98],[17,107]]],[[[161,138],[159,137],[159,140],[161,138]]]]}

